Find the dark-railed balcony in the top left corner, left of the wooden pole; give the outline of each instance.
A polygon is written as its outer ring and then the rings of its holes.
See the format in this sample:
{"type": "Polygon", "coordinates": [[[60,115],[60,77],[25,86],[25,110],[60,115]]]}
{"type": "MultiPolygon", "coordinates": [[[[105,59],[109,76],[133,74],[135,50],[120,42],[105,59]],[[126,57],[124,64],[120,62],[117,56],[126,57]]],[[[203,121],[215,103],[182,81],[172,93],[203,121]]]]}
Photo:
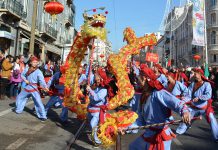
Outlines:
{"type": "Polygon", "coordinates": [[[17,0],[0,1],[0,13],[5,14],[5,18],[20,20],[26,18],[26,13],[23,12],[23,5],[17,0]]]}

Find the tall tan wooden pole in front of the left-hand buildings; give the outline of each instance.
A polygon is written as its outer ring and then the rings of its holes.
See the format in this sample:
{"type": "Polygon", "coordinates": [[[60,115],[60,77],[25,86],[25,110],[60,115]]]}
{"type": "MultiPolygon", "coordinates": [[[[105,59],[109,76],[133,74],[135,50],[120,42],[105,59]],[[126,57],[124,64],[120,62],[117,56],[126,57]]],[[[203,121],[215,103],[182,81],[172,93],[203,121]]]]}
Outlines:
{"type": "Polygon", "coordinates": [[[32,55],[34,55],[34,43],[35,43],[35,28],[36,28],[37,7],[38,7],[38,0],[34,0],[33,16],[32,16],[32,27],[31,27],[31,35],[30,35],[30,47],[29,47],[29,52],[32,55]]]}

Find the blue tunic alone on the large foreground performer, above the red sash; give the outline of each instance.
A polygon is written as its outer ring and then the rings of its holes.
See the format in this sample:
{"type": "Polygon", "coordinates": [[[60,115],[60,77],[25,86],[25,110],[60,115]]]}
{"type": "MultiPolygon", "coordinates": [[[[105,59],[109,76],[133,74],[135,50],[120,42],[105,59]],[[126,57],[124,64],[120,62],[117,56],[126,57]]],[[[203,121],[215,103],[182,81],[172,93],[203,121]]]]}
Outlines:
{"type": "Polygon", "coordinates": [[[184,103],[166,90],[154,90],[148,97],[137,124],[142,126],[165,122],[169,117],[168,110],[181,114],[184,103]]]}

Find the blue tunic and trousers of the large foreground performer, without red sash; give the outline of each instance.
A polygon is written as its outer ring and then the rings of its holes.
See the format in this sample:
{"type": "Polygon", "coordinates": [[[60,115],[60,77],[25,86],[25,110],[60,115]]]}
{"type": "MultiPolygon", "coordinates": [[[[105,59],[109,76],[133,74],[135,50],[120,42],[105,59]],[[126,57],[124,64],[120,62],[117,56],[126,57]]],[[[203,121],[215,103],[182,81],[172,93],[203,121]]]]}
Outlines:
{"type": "MultiPolygon", "coordinates": [[[[154,90],[151,95],[148,97],[146,104],[143,107],[142,112],[139,115],[139,118],[136,121],[136,124],[133,124],[132,127],[144,126],[155,123],[166,122],[169,117],[169,109],[182,115],[183,112],[188,111],[184,101],[180,101],[178,98],[167,92],[166,90],[154,90]]],[[[166,126],[155,127],[159,129],[166,128],[165,133],[169,135],[172,133],[170,128],[166,126]]],[[[156,131],[146,129],[143,134],[144,137],[152,137],[157,134],[156,131]]],[[[170,149],[171,140],[164,141],[164,148],[170,149]]],[[[149,149],[149,143],[144,141],[140,136],[129,146],[130,150],[141,150],[149,149]]]]}

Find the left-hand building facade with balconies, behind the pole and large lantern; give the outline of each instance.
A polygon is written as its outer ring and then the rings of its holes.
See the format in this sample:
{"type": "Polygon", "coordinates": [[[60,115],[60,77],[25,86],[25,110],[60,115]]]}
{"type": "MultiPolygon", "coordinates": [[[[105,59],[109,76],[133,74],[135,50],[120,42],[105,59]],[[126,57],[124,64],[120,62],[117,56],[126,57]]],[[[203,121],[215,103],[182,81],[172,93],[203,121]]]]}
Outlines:
{"type": "MultiPolygon", "coordinates": [[[[72,45],[75,35],[75,6],[72,0],[58,0],[64,11],[52,18],[45,12],[48,1],[39,0],[34,55],[56,61],[72,45]]],[[[0,50],[13,56],[29,53],[33,0],[0,1],[0,50]]]]}

